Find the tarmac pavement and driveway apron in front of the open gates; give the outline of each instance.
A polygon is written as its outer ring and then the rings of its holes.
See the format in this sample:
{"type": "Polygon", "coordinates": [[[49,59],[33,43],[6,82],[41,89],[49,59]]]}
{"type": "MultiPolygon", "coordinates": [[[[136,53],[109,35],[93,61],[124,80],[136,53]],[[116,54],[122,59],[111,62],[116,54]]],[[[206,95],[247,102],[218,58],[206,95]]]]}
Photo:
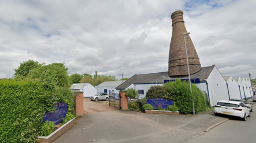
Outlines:
{"type": "Polygon", "coordinates": [[[54,143],[187,142],[227,120],[228,117],[215,116],[213,110],[196,115],[97,112],[78,117],[76,125],[54,143]]]}

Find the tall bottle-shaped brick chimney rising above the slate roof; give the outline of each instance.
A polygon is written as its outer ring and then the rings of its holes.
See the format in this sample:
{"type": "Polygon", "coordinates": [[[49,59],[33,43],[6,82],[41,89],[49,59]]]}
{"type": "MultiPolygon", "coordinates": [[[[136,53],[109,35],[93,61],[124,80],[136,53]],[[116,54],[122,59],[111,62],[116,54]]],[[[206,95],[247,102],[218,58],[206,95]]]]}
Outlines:
{"type": "MultiPolygon", "coordinates": [[[[186,49],[183,33],[187,33],[183,12],[175,11],[171,15],[172,39],[169,52],[169,77],[183,77],[188,75],[186,49]]],[[[186,35],[189,73],[194,74],[201,70],[201,64],[196,49],[189,35],[186,35]]]]}

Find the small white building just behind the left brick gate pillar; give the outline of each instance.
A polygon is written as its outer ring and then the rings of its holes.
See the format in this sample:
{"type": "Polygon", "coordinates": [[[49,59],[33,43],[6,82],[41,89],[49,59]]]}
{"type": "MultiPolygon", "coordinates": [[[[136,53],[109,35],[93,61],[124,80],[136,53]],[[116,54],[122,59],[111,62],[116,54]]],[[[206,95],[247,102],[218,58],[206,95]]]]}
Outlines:
{"type": "Polygon", "coordinates": [[[90,98],[91,96],[97,94],[97,89],[90,83],[74,83],[69,89],[72,91],[83,91],[84,98],[90,98]]]}

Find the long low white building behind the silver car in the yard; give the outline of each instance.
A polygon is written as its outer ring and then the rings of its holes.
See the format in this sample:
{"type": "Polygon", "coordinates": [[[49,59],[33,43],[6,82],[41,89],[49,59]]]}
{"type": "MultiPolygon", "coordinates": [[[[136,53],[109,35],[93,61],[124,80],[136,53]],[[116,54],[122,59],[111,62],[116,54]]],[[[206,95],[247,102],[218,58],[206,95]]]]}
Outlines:
{"type": "Polygon", "coordinates": [[[119,85],[121,85],[125,81],[126,80],[104,81],[104,82],[100,83],[98,86],[96,86],[95,88],[97,88],[97,90],[98,90],[97,92],[104,92],[104,93],[109,94],[109,90],[110,90],[110,91],[114,91],[119,94],[119,90],[116,90],[115,88],[118,87],[119,85]]]}

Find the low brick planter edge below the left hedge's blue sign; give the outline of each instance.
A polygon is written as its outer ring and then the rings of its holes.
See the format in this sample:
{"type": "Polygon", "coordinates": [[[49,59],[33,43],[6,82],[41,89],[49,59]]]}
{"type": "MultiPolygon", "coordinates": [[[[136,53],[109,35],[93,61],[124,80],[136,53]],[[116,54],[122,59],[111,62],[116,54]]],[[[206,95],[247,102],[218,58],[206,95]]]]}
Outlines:
{"type": "Polygon", "coordinates": [[[63,124],[59,129],[52,132],[49,136],[39,136],[37,137],[36,143],[51,143],[58,137],[60,137],[63,133],[65,133],[67,130],[69,130],[73,125],[76,123],[76,118],[74,117],[70,121],[68,121],[66,124],[63,124]]]}

